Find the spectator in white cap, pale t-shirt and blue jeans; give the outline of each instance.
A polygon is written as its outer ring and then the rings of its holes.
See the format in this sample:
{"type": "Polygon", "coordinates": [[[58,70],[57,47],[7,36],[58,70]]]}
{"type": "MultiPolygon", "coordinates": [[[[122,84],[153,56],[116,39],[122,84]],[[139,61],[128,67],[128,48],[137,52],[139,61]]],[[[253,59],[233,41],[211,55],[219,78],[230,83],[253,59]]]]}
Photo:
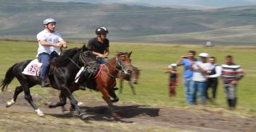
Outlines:
{"type": "Polygon", "coordinates": [[[207,62],[208,54],[201,53],[198,55],[201,61],[193,61],[190,65],[190,70],[193,70],[191,84],[191,105],[197,104],[197,92],[199,91],[202,105],[206,104],[206,73],[210,70],[210,63],[207,62]]]}

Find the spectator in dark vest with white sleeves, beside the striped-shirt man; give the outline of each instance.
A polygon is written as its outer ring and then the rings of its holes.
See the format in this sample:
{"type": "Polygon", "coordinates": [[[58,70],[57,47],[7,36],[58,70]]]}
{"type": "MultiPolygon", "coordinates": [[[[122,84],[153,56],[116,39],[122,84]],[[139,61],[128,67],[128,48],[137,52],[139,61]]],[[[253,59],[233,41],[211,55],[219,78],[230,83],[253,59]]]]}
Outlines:
{"type": "Polygon", "coordinates": [[[207,71],[206,78],[208,79],[207,87],[206,87],[206,99],[214,102],[216,99],[216,92],[218,87],[218,77],[222,75],[222,67],[216,64],[216,58],[210,57],[208,59],[210,62],[210,70],[207,71]],[[208,90],[211,88],[212,90],[212,98],[209,97],[208,90]]]}

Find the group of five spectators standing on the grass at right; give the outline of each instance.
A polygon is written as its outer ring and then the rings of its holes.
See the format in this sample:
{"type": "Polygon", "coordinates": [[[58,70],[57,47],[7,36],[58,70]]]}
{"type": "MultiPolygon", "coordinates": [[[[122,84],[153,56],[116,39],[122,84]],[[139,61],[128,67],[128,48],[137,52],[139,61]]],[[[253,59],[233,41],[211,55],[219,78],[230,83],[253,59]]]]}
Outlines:
{"type": "Polygon", "coordinates": [[[215,102],[218,87],[218,78],[221,78],[226,102],[230,110],[237,105],[237,86],[238,81],[244,76],[241,66],[233,62],[233,57],[227,55],[226,64],[218,65],[216,58],[209,56],[207,53],[198,54],[190,50],[186,56],[182,56],[178,62],[167,67],[166,73],[170,73],[169,94],[174,96],[175,89],[178,85],[177,66],[183,66],[183,88],[186,102],[189,105],[197,105],[197,96],[201,99],[202,106],[206,105],[206,101],[215,102]],[[211,94],[209,93],[211,89],[211,94]],[[211,95],[211,96],[210,96],[211,95]]]}

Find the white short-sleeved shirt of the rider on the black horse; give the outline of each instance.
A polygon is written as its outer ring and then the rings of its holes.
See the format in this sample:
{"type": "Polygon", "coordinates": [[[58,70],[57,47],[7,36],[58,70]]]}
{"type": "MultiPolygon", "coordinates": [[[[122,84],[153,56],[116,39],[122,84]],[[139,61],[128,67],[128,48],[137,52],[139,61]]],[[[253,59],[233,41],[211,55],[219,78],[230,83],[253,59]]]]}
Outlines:
{"type": "MultiPolygon", "coordinates": [[[[46,42],[58,43],[61,42],[62,36],[58,34],[58,32],[54,31],[54,33],[50,33],[47,30],[42,30],[37,35],[38,38],[38,54],[42,52],[46,52],[47,54],[51,54],[53,51],[58,53],[58,46],[42,46],[39,40],[45,40],[46,42]]],[[[37,54],[37,56],[38,56],[37,54]]]]}

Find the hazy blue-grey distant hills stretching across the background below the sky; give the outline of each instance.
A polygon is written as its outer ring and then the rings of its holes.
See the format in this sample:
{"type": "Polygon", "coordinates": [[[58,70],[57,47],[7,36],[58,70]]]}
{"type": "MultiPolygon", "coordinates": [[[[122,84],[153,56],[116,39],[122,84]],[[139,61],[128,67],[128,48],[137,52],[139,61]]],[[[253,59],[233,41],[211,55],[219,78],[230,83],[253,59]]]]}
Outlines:
{"type": "Polygon", "coordinates": [[[256,6],[214,10],[152,6],[0,0],[0,38],[36,39],[42,20],[54,18],[68,40],[87,41],[98,26],[112,42],[253,44],[256,6]]]}

